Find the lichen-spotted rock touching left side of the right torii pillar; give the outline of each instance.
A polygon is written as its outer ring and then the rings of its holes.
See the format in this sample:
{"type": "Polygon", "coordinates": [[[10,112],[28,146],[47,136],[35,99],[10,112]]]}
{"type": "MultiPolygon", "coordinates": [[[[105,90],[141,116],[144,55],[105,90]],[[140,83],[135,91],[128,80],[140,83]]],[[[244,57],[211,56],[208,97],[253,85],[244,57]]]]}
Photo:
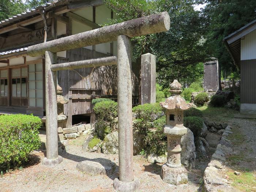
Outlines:
{"type": "Polygon", "coordinates": [[[118,132],[109,133],[101,143],[101,150],[104,154],[118,154],[118,132]]]}

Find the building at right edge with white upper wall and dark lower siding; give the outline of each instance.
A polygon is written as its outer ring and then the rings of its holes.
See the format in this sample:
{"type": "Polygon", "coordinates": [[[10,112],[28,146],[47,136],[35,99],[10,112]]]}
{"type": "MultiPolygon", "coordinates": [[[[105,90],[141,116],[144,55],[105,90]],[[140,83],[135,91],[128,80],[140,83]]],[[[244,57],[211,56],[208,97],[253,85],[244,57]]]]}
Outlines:
{"type": "Polygon", "coordinates": [[[256,20],[223,41],[240,68],[240,114],[256,114],[256,20]]]}

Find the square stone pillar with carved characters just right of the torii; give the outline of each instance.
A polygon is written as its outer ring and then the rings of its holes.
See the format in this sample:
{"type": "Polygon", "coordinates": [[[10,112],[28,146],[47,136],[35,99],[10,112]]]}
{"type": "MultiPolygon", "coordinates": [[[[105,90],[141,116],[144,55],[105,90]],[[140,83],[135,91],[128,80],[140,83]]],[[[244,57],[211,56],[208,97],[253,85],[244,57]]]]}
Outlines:
{"type": "Polygon", "coordinates": [[[141,105],[155,103],[155,55],[141,56],[141,105]]]}

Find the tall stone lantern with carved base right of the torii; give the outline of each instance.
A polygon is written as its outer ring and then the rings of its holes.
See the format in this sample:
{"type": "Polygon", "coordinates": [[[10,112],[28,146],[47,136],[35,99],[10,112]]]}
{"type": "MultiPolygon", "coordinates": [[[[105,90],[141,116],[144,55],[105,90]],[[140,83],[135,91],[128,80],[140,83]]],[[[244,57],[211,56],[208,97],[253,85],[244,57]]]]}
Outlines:
{"type": "Polygon", "coordinates": [[[183,126],[183,113],[188,109],[184,98],[180,96],[181,84],[174,80],[170,84],[172,96],[165,102],[160,103],[166,110],[166,125],[163,132],[167,136],[167,162],[162,166],[163,181],[179,185],[188,182],[187,169],[181,165],[181,136],[187,133],[187,128],[183,126]]]}

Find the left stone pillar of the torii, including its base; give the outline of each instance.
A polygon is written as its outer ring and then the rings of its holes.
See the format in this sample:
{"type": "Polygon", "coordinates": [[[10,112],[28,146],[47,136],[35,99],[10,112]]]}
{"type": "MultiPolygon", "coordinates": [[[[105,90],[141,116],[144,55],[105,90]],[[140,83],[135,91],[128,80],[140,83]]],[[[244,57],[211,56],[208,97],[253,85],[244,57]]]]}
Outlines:
{"type": "Polygon", "coordinates": [[[57,72],[51,65],[57,63],[57,53],[45,52],[45,109],[46,109],[46,158],[42,164],[54,166],[63,161],[58,155],[58,121],[57,121],[57,72]]]}

